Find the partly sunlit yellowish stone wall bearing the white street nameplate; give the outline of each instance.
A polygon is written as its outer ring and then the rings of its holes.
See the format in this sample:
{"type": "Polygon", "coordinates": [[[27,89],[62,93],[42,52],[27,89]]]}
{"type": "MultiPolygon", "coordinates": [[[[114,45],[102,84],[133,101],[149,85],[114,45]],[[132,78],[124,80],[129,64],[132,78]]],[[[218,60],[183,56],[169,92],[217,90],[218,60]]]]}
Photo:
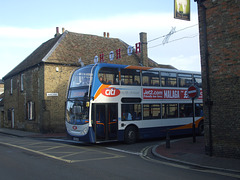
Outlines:
{"type": "Polygon", "coordinates": [[[43,97],[43,130],[65,131],[65,102],[68,81],[75,66],[45,64],[43,97]],[[49,94],[52,93],[52,94],[49,94]]]}

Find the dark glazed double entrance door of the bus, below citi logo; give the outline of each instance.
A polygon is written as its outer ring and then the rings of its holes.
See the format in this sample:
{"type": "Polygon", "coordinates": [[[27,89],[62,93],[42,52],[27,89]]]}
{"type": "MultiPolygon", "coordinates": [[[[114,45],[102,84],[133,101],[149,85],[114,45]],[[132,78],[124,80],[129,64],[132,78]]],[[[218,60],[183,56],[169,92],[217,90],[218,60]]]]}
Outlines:
{"type": "Polygon", "coordinates": [[[96,141],[117,139],[117,111],[118,106],[115,103],[94,105],[94,129],[96,141]]]}

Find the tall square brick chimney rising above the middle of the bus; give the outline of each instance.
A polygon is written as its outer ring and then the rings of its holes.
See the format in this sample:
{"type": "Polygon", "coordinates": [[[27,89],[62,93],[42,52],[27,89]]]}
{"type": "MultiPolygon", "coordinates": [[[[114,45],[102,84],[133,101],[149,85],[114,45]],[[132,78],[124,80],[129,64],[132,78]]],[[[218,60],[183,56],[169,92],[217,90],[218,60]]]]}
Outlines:
{"type": "Polygon", "coordinates": [[[141,64],[148,67],[148,52],[147,52],[147,33],[140,33],[141,42],[141,64]]]}

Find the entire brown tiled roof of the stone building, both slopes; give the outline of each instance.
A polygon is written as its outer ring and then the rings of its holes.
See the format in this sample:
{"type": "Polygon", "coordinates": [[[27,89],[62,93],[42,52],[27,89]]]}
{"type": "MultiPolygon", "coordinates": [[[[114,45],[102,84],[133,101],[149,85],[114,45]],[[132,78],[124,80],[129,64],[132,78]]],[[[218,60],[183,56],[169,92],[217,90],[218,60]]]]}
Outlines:
{"type": "MultiPolygon", "coordinates": [[[[80,65],[81,58],[84,64],[93,64],[94,57],[104,54],[104,60],[107,63],[139,65],[140,57],[136,54],[127,55],[128,44],[118,38],[107,38],[96,35],[80,34],[65,31],[63,34],[52,38],[40,45],[32,54],[24,59],[12,71],[10,71],[3,79],[18,74],[32,66],[41,62],[57,63],[67,65],[80,65]],[[110,51],[121,49],[122,58],[110,61],[110,51]],[[124,59],[124,60],[123,60],[124,59]]],[[[149,59],[149,66],[174,68],[169,65],[159,65],[149,59]]]]}

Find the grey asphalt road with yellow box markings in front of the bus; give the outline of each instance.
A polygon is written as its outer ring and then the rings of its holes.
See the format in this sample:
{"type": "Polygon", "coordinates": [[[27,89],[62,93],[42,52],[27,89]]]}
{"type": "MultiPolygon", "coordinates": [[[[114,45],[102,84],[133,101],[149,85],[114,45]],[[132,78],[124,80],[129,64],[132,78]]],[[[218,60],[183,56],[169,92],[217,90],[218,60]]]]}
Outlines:
{"type": "Polygon", "coordinates": [[[146,150],[157,143],[84,145],[0,134],[0,177],[4,180],[234,179],[154,159],[146,150]]]}

